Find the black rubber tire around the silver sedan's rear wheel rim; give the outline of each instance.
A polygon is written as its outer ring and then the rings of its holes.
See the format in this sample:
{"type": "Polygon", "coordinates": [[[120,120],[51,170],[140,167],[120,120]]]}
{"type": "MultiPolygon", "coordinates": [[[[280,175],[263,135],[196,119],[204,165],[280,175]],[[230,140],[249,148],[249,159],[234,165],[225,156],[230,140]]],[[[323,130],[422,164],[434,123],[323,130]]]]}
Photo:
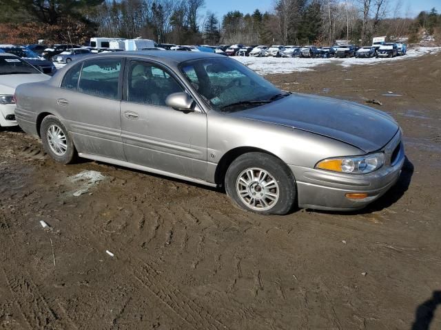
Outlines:
{"type": "Polygon", "coordinates": [[[61,164],[70,164],[74,162],[74,160],[76,160],[76,157],[78,157],[74,142],[72,141],[72,137],[70,137],[68,130],[65,128],[63,123],[54,115],[48,115],[43,119],[40,127],[40,136],[44,150],[56,162],[59,162],[61,164]],[[56,148],[50,145],[50,142],[48,140],[48,131],[52,126],[58,127],[65,137],[66,150],[64,153],[57,154],[55,151],[56,148]]]}

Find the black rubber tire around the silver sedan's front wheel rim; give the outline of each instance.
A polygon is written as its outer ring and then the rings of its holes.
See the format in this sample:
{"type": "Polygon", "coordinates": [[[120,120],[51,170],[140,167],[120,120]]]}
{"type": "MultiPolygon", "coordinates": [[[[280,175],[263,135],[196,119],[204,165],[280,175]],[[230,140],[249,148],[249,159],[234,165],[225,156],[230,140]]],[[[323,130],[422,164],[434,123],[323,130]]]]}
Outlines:
{"type": "MultiPolygon", "coordinates": [[[[261,182],[262,181],[257,183],[257,181],[254,181],[253,184],[249,184],[249,189],[255,192],[257,191],[255,195],[259,194],[258,191],[261,193],[265,192],[262,190],[265,188],[261,188],[262,186],[260,186],[261,182]],[[256,188],[256,190],[252,187],[256,188]],[[259,190],[257,190],[257,188],[259,188],[259,190]]],[[[271,185],[269,184],[268,186],[271,185]]],[[[225,175],[225,190],[236,206],[258,214],[287,214],[293,208],[296,201],[296,181],[291,170],[289,170],[287,165],[280,159],[272,155],[267,155],[266,153],[245,153],[234,159],[225,175]],[[269,201],[269,205],[266,209],[263,207],[262,201],[258,198],[250,198],[250,200],[255,200],[255,208],[252,208],[246,201],[243,201],[243,198],[238,195],[238,189],[236,189],[239,178],[241,175],[245,175],[245,170],[253,168],[256,170],[254,174],[257,174],[259,170],[264,170],[268,173],[267,177],[263,177],[265,184],[269,183],[265,180],[271,180],[272,177],[278,186],[273,190],[268,190],[268,192],[271,192],[273,195],[278,191],[278,198],[276,201],[272,201],[273,205],[271,205],[271,201],[269,201]],[[260,210],[258,209],[258,205],[256,205],[257,203],[260,205],[260,210]]],[[[248,196],[251,197],[252,195],[248,196]]]]}

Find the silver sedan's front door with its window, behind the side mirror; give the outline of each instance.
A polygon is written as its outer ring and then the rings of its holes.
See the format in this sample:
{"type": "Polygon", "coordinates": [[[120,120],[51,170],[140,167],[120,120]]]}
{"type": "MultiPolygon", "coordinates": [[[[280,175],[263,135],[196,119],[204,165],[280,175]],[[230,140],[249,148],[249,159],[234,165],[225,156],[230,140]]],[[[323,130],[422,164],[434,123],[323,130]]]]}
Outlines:
{"type": "Polygon", "coordinates": [[[167,107],[167,96],[185,91],[167,69],[144,61],[130,61],[126,71],[121,137],[127,162],[205,179],[205,113],[185,113],[167,107]]]}

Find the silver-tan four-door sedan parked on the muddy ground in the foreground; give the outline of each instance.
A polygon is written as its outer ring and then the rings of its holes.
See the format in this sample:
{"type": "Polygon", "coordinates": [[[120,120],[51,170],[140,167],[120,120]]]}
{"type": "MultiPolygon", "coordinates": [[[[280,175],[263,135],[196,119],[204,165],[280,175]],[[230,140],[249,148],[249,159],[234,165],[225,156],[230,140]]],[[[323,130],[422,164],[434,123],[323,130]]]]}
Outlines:
{"type": "Polygon", "coordinates": [[[21,128],[57,162],[76,156],[207,186],[261,214],[356,210],[404,163],[386,113],[281,91],[232,58],[119,52],[16,91],[21,128]]]}

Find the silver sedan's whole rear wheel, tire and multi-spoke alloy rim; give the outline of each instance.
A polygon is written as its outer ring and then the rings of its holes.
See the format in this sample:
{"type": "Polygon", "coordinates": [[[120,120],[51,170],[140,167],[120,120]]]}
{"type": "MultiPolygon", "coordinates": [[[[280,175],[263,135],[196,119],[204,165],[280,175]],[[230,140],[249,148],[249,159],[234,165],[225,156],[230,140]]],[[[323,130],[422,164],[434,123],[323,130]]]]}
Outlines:
{"type": "Polygon", "coordinates": [[[76,159],[72,138],[63,123],[54,115],[48,115],[43,119],[40,136],[46,153],[56,162],[69,164],[76,159]]]}

